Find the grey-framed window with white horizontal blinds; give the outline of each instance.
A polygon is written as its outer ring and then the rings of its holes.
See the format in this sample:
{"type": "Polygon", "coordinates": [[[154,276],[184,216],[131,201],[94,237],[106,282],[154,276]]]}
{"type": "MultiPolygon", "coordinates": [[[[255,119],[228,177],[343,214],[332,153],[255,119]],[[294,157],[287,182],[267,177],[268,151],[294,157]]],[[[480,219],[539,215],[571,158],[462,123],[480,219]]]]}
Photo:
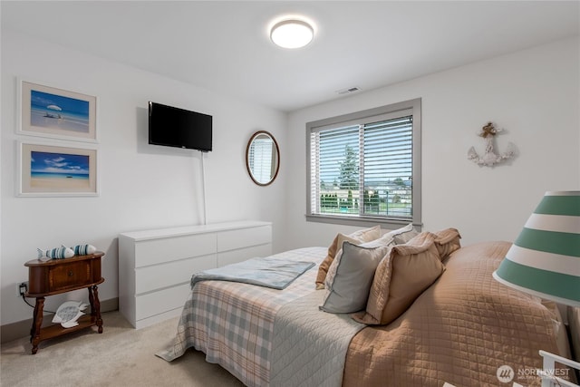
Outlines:
{"type": "Polygon", "coordinates": [[[306,218],[420,225],[420,99],[306,124],[306,218]]]}

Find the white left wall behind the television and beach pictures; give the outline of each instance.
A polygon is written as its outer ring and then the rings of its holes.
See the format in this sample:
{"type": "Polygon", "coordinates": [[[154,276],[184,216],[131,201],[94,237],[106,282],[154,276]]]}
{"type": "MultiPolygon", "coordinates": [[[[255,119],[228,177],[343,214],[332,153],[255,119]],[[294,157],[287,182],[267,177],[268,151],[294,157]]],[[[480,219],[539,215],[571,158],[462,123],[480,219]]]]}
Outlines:
{"type": "MultiPolygon", "coordinates": [[[[284,160],[275,182],[258,187],[247,176],[245,152],[251,134],[266,130],[284,154],[285,113],[3,30],[0,324],[32,317],[32,309],[17,296],[16,284],[27,280],[24,263],[36,257],[36,247],[91,243],[105,251],[105,282],[99,294],[108,300],[118,295],[119,233],[202,222],[200,153],[149,145],[148,101],[213,115],[214,151],[205,159],[208,223],[272,221],[274,250],[281,249],[284,160]],[[16,142],[43,140],[15,133],[16,77],[99,98],[99,197],[16,197],[16,142]]],[[[85,294],[69,297],[86,298],[85,294]]],[[[55,310],[61,302],[62,296],[48,297],[45,309],[55,310]]]]}

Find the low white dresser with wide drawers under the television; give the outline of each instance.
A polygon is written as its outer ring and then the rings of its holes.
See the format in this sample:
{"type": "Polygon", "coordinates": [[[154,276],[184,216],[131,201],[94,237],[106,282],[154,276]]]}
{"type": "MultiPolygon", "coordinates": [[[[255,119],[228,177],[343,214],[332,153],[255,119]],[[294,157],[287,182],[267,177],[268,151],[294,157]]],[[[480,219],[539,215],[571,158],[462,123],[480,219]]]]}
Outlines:
{"type": "Polygon", "coordinates": [[[137,329],[181,314],[194,273],[272,254],[272,224],[161,228],[119,236],[119,310],[137,329]]]}

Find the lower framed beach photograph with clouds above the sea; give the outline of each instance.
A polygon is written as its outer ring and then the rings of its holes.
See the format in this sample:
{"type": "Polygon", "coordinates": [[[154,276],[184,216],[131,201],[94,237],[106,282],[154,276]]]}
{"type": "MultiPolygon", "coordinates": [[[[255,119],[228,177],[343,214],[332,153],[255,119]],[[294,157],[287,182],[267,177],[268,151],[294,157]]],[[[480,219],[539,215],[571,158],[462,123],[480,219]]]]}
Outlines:
{"type": "Polygon", "coordinates": [[[98,196],[97,150],[18,143],[18,196],[98,196]]]}

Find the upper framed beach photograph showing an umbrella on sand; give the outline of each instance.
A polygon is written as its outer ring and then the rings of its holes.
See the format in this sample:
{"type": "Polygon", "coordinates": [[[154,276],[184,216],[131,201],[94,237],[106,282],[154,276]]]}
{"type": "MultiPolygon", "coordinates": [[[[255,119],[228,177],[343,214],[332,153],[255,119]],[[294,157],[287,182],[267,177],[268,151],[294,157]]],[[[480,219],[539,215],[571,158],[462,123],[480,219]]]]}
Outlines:
{"type": "Polygon", "coordinates": [[[19,134],[97,142],[97,97],[18,82],[19,134]]]}

